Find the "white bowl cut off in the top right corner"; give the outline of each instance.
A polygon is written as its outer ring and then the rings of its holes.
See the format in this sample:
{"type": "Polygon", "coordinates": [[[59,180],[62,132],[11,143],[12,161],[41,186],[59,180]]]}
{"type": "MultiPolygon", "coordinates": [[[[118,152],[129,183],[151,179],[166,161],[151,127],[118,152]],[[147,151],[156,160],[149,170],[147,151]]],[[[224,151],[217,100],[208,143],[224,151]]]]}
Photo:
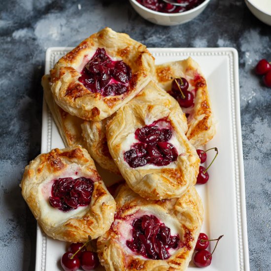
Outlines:
{"type": "MultiPolygon", "coordinates": [[[[260,21],[271,26],[271,9],[265,10],[261,0],[245,0],[245,3],[249,10],[255,15],[260,21]]],[[[271,1],[267,2],[271,5],[271,1]]]]}

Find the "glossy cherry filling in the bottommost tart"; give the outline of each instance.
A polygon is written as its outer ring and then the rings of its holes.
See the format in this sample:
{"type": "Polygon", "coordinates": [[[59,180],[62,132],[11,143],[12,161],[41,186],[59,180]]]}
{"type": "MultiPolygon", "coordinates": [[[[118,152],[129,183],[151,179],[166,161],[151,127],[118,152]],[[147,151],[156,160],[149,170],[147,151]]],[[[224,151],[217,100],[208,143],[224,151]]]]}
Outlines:
{"type": "Polygon", "coordinates": [[[132,240],[126,245],[136,253],[155,260],[169,259],[169,249],[179,246],[180,237],[171,236],[170,229],[154,215],[143,215],[133,221],[132,240]]]}

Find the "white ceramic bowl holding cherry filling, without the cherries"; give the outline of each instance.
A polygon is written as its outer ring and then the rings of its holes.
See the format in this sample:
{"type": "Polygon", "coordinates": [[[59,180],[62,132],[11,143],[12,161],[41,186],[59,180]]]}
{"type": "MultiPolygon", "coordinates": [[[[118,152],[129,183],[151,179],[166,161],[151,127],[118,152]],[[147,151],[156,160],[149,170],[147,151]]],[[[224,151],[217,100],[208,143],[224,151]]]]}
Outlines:
{"type": "Polygon", "coordinates": [[[161,26],[175,26],[191,21],[203,12],[210,0],[205,0],[195,8],[181,13],[162,13],[148,9],[136,0],[130,0],[135,11],[144,19],[161,26]]]}

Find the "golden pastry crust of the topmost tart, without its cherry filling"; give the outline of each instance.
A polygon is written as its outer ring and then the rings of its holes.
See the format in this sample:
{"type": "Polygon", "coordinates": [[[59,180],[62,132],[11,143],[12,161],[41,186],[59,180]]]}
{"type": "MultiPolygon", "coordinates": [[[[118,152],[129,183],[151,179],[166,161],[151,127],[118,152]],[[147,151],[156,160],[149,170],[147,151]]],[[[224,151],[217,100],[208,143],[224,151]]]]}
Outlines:
{"type": "Polygon", "coordinates": [[[92,121],[107,118],[133,99],[154,73],[154,58],[146,46],[110,28],[104,28],[82,41],[50,71],[56,103],[71,115],[92,121]],[[100,93],[92,93],[78,81],[81,70],[98,47],[104,48],[111,58],[123,60],[132,69],[130,89],[126,93],[103,97],[100,93]]]}

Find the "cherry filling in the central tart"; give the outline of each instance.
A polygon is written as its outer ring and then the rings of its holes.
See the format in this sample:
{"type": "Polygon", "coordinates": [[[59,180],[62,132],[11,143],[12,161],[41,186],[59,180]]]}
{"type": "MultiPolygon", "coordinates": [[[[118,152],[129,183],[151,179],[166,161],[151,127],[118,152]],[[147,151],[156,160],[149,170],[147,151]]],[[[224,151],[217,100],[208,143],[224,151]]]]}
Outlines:
{"type": "Polygon", "coordinates": [[[167,166],[176,161],[178,151],[169,142],[172,136],[171,125],[166,120],[158,120],[151,125],[135,130],[135,138],[140,142],[124,153],[124,160],[131,168],[152,164],[167,166]],[[159,128],[159,123],[166,123],[169,128],[159,128]]]}

